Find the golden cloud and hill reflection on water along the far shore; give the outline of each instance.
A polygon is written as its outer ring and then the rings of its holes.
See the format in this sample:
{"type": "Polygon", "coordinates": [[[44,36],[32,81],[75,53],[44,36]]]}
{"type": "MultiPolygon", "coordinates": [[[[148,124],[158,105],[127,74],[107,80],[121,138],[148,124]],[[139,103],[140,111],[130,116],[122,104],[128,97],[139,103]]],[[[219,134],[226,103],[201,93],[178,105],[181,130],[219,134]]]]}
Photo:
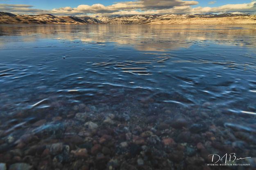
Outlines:
{"type": "Polygon", "coordinates": [[[140,51],[188,48],[207,40],[224,45],[256,46],[251,37],[256,34],[254,25],[222,25],[221,28],[214,25],[6,25],[0,27],[0,32],[2,36],[22,36],[21,41],[35,41],[40,37],[97,44],[116,42],[140,51]]]}

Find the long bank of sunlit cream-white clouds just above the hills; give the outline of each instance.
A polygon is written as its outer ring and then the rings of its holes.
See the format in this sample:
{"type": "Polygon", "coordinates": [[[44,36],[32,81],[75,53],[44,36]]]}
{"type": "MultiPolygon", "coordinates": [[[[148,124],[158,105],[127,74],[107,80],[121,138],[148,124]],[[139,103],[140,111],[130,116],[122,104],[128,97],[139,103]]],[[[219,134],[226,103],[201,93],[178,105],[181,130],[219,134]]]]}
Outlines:
{"type": "Polygon", "coordinates": [[[14,13],[52,13],[55,15],[131,15],[131,14],[165,14],[165,13],[227,13],[256,12],[256,1],[243,4],[226,4],[220,7],[192,7],[198,4],[194,0],[139,0],[127,1],[104,6],[103,4],[78,7],[61,7],[52,10],[33,9],[25,4],[0,4],[0,11],[14,13]]]}

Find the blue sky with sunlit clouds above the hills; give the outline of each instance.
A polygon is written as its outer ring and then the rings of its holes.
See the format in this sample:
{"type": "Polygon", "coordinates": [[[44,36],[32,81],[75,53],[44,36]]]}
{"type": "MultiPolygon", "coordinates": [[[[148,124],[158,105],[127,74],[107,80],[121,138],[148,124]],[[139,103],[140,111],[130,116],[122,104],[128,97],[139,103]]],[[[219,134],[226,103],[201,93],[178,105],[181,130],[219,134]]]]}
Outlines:
{"type": "Polygon", "coordinates": [[[0,11],[73,16],[256,13],[256,0],[0,0],[0,11]]]}

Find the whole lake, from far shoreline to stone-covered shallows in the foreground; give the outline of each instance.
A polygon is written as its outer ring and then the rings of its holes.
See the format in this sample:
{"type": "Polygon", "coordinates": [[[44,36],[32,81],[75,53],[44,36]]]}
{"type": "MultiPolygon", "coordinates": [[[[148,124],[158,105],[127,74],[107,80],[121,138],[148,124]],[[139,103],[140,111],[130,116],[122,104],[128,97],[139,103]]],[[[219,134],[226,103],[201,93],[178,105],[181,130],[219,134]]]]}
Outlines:
{"type": "Polygon", "coordinates": [[[253,169],[256,27],[0,25],[0,103],[7,166],[253,169]]]}

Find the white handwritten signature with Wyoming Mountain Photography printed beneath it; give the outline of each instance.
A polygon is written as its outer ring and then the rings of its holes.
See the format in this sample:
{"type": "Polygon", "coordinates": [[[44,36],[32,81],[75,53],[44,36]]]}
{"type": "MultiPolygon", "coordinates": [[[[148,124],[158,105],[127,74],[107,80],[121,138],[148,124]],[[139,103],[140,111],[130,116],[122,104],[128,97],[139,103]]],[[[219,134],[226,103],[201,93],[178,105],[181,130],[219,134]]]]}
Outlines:
{"type": "Polygon", "coordinates": [[[223,157],[221,157],[220,155],[218,154],[209,154],[208,157],[211,157],[211,161],[213,164],[208,164],[209,166],[219,166],[219,165],[222,165],[222,166],[235,166],[235,165],[238,165],[238,166],[250,166],[250,164],[237,164],[237,163],[234,163],[236,160],[242,160],[242,159],[249,159],[251,157],[237,157],[236,156],[236,153],[231,153],[231,154],[224,154],[223,157]],[[225,163],[223,164],[216,164],[217,162],[219,161],[225,161],[225,163]],[[229,163],[227,164],[227,161],[229,161],[229,163]]]}

